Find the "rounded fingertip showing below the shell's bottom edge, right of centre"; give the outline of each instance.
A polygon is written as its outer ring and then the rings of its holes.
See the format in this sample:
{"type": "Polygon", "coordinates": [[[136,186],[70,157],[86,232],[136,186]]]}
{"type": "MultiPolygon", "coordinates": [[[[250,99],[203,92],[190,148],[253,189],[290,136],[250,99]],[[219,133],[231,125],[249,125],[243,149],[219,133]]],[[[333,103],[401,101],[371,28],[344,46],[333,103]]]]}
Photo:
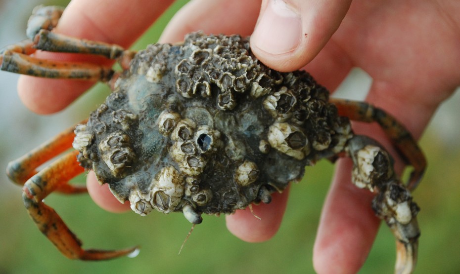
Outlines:
{"type": "Polygon", "coordinates": [[[226,216],[227,228],[244,241],[261,242],[270,239],[279,229],[287,197],[288,189],[282,194],[274,193],[269,204],[252,205],[253,212],[250,208],[236,210],[234,214],[226,216]]]}

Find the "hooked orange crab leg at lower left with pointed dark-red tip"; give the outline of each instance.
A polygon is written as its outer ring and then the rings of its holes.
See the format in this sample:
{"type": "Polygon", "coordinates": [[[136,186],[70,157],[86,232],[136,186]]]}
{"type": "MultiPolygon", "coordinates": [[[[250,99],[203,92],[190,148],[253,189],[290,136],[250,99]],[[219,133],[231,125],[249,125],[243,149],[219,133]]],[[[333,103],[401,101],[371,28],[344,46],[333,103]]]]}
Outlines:
{"type": "Polygon", "coordinates": [[[82,242],[59,215],[43,202],[47,195],[84,171],[76,160],[78,153],[73,151],[64,155],[25,183],[22,196],[29,215],[40,231],[68,258],[106,260],[134,252],[137,247],[113,251],[82,249],[82,242]]]}

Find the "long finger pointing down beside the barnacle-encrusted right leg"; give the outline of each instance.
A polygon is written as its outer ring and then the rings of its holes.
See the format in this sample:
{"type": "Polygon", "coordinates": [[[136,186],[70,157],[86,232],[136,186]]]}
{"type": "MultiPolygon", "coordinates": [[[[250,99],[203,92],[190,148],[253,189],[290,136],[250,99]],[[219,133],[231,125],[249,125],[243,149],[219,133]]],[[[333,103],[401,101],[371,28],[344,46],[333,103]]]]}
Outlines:
{"type": "Polygon", "coordinates": [[[324,203],[313,252],[318,274],[358,273],[380,224],[370,207],[372,195],[351,183],[351,167],[350,159],[338,161],[324,203]]]}

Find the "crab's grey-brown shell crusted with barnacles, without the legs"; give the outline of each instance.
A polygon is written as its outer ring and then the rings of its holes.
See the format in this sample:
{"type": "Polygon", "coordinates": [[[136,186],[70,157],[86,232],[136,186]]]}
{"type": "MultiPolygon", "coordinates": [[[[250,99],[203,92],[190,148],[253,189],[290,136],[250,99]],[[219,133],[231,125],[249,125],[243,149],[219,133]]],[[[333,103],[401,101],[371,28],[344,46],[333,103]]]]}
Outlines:
{"type": "Polygon", "coordinates": [[[239,36],[193,33],[138,52],[78,126],[79,159],[141,215],[231,213],[269,202],[351,137],[328,92],[303,71],[261,64],[239,36]]]}

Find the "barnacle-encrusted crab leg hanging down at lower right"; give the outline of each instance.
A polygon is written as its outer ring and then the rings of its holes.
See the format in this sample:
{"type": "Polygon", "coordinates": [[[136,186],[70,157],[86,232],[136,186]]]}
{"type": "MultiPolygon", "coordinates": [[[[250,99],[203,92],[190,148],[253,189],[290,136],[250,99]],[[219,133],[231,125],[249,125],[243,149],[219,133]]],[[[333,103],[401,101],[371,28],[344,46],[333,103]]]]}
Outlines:
{"type": "Polygon", "coordinates": [[[397,239],[395,273],[412,273],[420,235],[416,219],[419,208],[412,201],[409,190],[398,180],[393,159],[376,141],[360,135],[348,141],[348,153],[354,163],[353,183],[376,193],[372,208],[397,239]]]}

